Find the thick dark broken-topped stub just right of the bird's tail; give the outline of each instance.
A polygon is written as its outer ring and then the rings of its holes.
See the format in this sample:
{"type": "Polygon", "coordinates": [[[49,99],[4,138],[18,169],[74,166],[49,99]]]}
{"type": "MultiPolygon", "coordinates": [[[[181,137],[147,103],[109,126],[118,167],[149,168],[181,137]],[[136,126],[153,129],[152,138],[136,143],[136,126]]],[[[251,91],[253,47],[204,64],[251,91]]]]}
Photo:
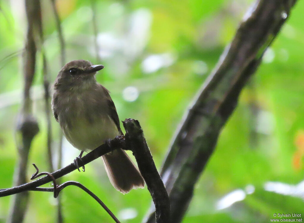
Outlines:
{"type": "Polygon", "coordinates": [[[126,130],[126,146],[132,150],[138,168],[143,176],[155,205],[155,221],[157,223],[170,223],[170,202],[168,193],[155,167],[152,155],[143,136],[143,130],[137,120],[123,121],[126,130]]]}

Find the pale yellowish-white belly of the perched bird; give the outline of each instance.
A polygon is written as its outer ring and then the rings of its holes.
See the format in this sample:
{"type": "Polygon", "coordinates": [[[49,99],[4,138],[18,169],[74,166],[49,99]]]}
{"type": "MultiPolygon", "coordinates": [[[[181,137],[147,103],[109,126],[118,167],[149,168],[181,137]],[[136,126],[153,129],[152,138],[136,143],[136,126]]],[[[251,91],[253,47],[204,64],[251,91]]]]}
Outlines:
{"type": "Polygon", "coordinates": [[[89,123],[85,117],[73,120],[73,126],[61,126],[67,140],[82,151],[94,150],[104,144],[105,140],[114,139],[119,135],[116,124],[106,114],[96,117],[89,123]]]}

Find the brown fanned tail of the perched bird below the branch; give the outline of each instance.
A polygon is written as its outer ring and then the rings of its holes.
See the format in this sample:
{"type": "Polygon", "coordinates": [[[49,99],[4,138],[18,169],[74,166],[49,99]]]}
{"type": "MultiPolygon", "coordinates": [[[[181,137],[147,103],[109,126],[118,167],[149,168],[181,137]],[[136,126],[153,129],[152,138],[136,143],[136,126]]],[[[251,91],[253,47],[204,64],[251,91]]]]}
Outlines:
{"type": "Polygon", "coordinates": [[[124,150],[113,150],[103,155],[102,159],[109,180],[116,190],[126,194],[133,188],[144,188],[143,177],[124,150]]]}

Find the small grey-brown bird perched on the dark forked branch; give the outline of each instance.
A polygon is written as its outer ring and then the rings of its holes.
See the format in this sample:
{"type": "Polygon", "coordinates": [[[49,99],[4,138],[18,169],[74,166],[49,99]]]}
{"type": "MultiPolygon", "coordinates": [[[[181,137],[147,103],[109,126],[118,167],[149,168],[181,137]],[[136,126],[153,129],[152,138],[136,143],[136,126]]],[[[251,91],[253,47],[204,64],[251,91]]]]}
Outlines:
{"type": "MultiPolygon", "coordinates": [[[[84,151],[123,135],[109,91],[96,81],[95,74],[103,68],[87,60],[73,60],[60,69],[54,81],[52,111],[66,139],[81,150],[77,159],[84,151]]],[[[102,160],[117,191],[125,194],[133,188],[144,188],[143,177],[123,149],[103,155],[102,160]]]]}

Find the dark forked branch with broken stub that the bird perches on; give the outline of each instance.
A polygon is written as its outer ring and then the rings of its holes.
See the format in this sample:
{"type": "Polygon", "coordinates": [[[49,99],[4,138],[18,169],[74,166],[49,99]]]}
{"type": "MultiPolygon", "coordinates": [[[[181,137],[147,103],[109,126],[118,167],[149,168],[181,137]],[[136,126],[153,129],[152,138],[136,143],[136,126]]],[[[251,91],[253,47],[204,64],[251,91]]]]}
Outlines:
{"type": "MultiPolygon", "coordinates": [[[[155,167],[146,139],[143,136],[143,130],[141,129],[140,124],[137,120],[126,119],[123,122],[123,125],[126,129],[126,138],[124,136],[117,136],[115,139],[111,140],[110,143],[106,143],[97,147],[95,150],[91,151],[81,158],[81,165],[88,164],[98,157],[101,157],[102,155],[109,153],[117,148],[131,150],[136,158],[140,173],[142,174],[147,184],[148,190],[150,191],[150,194],[153,198],[156,207],[156,222],[170,223],[170,203],[168,194],[164,187],[164,183],[162,182],[161,177],[155,167]],[[111,147],[109,145],[111,145],[111,147]]],[[[55,179],[58,179],[59,177],[62,177],[65,174],[68,174],[76,169],[77,167],[74,165],[74,162],[58,171],[55,171],[52,174],[46,172],[38,174],[38,168],[36,168],[37,171],[35,174],[33,174],[32,179],[41,176],[42,174],[47,174],[47,176],[30,183],[20,185],[18,187],[1,189],[0,197],[9,196],[29,190],[44,190],[37,188],[50,181],[53,181],[54,185],[56,185],[55,179]]],[[[56,189],[55,195],[57,195],[56,189]]]]}

